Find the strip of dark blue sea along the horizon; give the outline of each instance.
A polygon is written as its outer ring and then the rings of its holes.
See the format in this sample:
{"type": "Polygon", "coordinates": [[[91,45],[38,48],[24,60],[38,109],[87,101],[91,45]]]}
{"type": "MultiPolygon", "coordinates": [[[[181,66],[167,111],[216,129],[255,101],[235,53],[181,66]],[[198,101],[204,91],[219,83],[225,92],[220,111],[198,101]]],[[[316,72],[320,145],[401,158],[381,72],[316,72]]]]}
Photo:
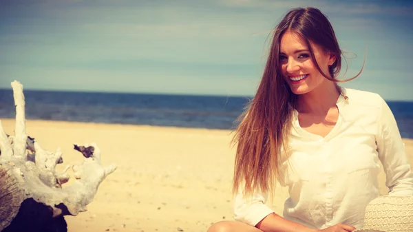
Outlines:
{"type": "MultiPolygon", "coordinates": [[[[234,129],[251,96],[191,96],[24,90],[27,119],[234,129]]],[[[387,101],[401,136],[413,138],[413,102],[387,101]]],[[[0,118],[15,118],[12,89],[0,89],[0,118]]]]}

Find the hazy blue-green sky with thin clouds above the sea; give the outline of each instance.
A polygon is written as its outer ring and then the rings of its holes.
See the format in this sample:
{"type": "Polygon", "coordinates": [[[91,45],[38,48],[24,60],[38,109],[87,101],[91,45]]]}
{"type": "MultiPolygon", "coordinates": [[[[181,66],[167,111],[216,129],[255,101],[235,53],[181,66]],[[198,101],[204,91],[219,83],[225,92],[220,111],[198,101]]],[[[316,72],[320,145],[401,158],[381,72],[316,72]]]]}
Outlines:
{"type": "Polygon", "coordinates": [[[0,88],[253,96],[268,33],[299,6],[357,54],[347,77],[367,46],[344,87],[413,101],[413,1],[0,0],[0,88]]]}

